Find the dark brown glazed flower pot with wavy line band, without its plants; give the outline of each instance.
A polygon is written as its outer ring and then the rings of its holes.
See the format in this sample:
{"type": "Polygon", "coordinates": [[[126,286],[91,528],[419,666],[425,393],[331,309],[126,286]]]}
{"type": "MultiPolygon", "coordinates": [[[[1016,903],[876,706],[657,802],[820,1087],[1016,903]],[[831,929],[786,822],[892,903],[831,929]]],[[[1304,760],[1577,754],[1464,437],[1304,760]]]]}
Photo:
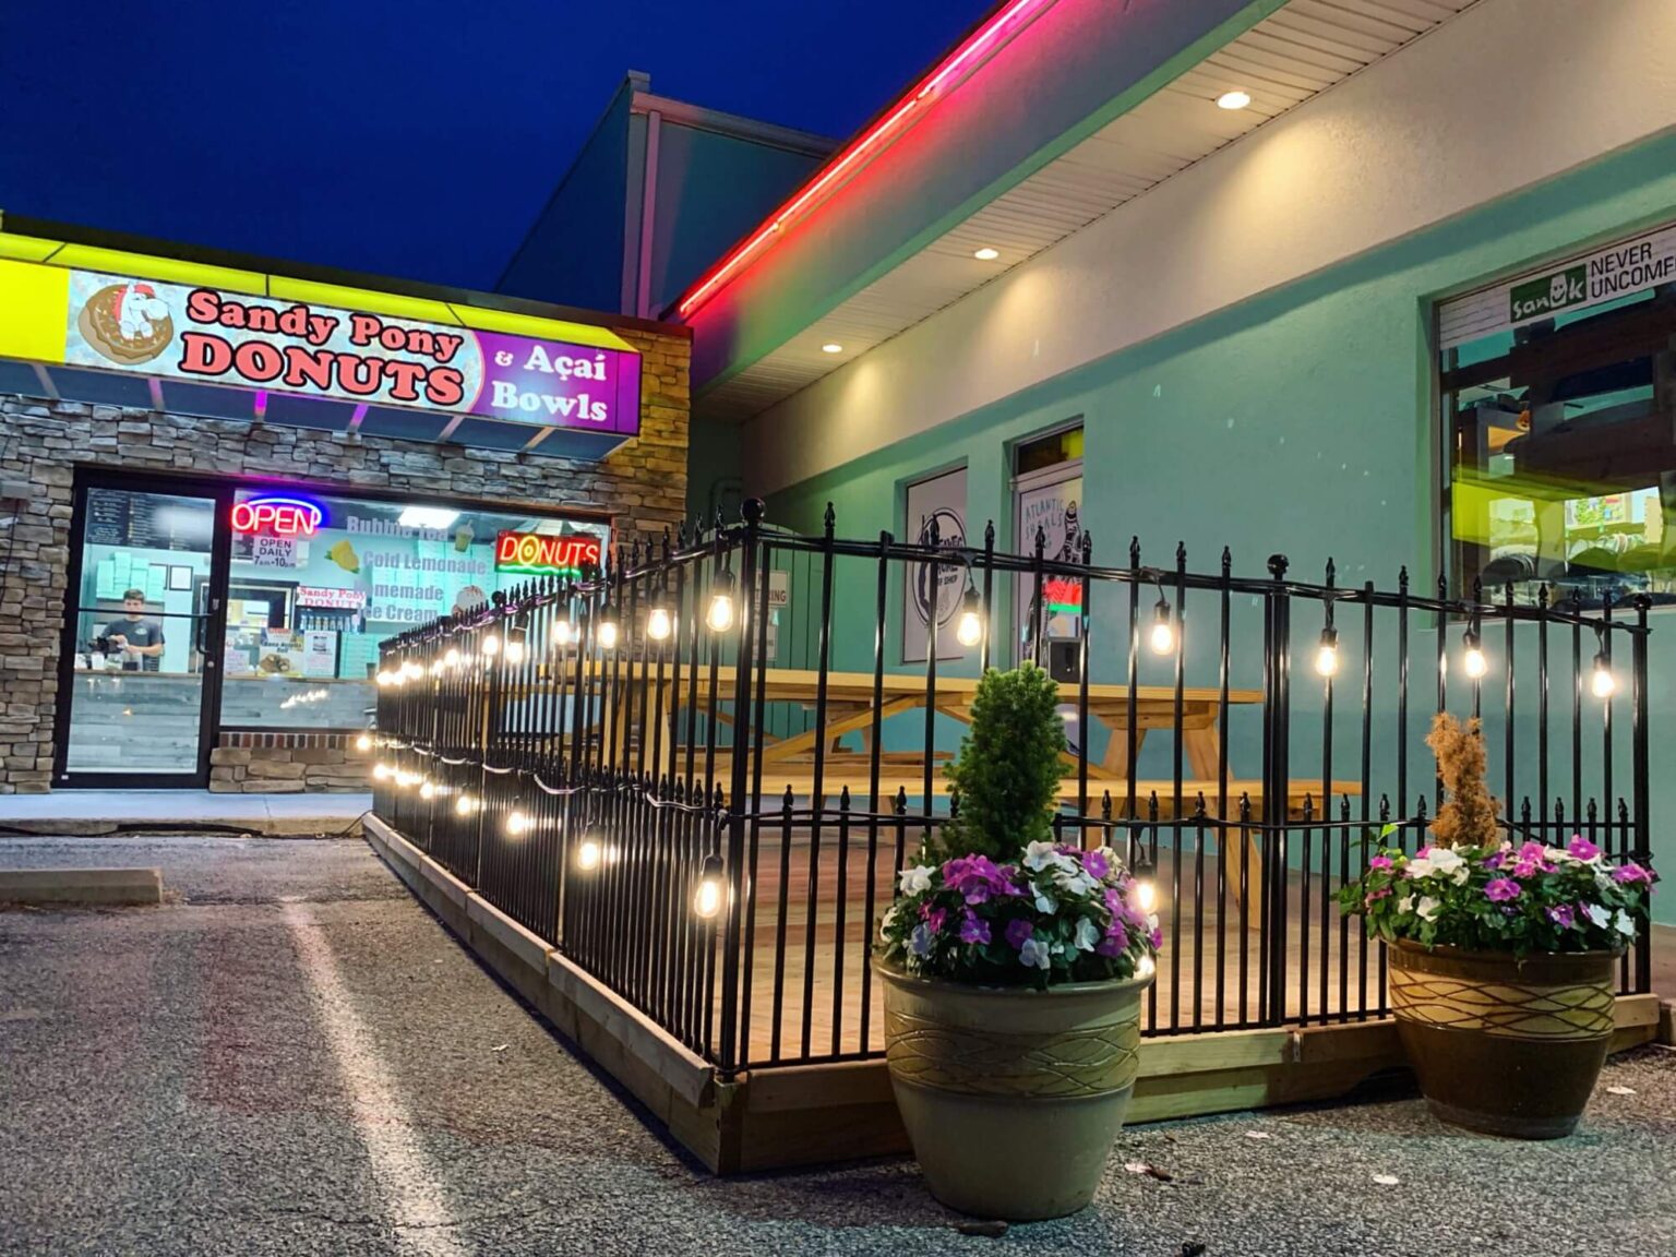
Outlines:
{"type": "Polygon", "coordinates": [[[1398,942],[1391,1011],[1431,1111],[1488,1135],[1570,1135],[1612,1039],[1616,962],[1398,942]]]}

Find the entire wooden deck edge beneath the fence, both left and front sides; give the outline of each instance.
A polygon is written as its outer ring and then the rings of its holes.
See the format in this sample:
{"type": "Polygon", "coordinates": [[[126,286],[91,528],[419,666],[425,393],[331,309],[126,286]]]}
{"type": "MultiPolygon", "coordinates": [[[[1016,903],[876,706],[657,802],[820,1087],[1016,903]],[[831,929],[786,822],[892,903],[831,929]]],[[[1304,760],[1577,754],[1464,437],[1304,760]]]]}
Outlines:
{"type": "MultiPolygon", "coordinates": [[[[908,1151],[882,1059],[714,1069],[598,979],[473,893],[394,828],[365,821],[372,848],[491,969],[583,1056],[628,1089],[714,1173],[823,1165],[908,1151]]],[[[1658,996],[1616,1004],[1611,1051],[1659,1034],[1658,996]]],[[[1403,1068],[1389,1019],[1146,1039],[1130,1123],[1334,1099],[1403,1068]]]]}

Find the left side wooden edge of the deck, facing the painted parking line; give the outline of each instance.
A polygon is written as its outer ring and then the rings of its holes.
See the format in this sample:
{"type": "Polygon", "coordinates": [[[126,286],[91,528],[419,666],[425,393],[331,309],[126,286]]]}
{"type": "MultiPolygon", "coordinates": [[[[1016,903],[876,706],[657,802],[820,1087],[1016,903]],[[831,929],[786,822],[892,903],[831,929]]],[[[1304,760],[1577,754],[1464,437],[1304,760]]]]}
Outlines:
{"type": "Polygon", "coordinates": [[[724,1108],[714,1071],[662,1027],[459,878],[397,830],[369,816],[374,851],[478,957],[635,1099],[712,1173],[737,1168],[724,1160],[724,1108]]]}

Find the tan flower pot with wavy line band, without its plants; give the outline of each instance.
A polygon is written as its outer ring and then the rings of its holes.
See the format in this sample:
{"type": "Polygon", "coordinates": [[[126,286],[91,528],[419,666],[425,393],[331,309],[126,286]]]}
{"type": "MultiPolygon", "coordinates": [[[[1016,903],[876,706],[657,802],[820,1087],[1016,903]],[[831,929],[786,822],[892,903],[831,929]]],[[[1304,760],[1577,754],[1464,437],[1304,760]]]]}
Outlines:
{"type": "Polygon", "coordinates": [[[1024,991],[875,969],[890,1084],[932,1195],[1009,1222],[1093,1200],[1135,1089],[1151,977],[1024,991]]]}

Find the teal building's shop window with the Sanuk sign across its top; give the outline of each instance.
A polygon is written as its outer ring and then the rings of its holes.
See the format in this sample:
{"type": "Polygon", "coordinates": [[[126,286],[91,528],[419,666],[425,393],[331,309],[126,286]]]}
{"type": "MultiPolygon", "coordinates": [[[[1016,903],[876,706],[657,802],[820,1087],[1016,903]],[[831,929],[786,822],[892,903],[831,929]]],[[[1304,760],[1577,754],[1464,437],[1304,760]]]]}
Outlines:
{"type": "Polygon", "coordinates": [[[1676,228],[1440,308],[1458,593],[1676,602],[1676,228]]]}

